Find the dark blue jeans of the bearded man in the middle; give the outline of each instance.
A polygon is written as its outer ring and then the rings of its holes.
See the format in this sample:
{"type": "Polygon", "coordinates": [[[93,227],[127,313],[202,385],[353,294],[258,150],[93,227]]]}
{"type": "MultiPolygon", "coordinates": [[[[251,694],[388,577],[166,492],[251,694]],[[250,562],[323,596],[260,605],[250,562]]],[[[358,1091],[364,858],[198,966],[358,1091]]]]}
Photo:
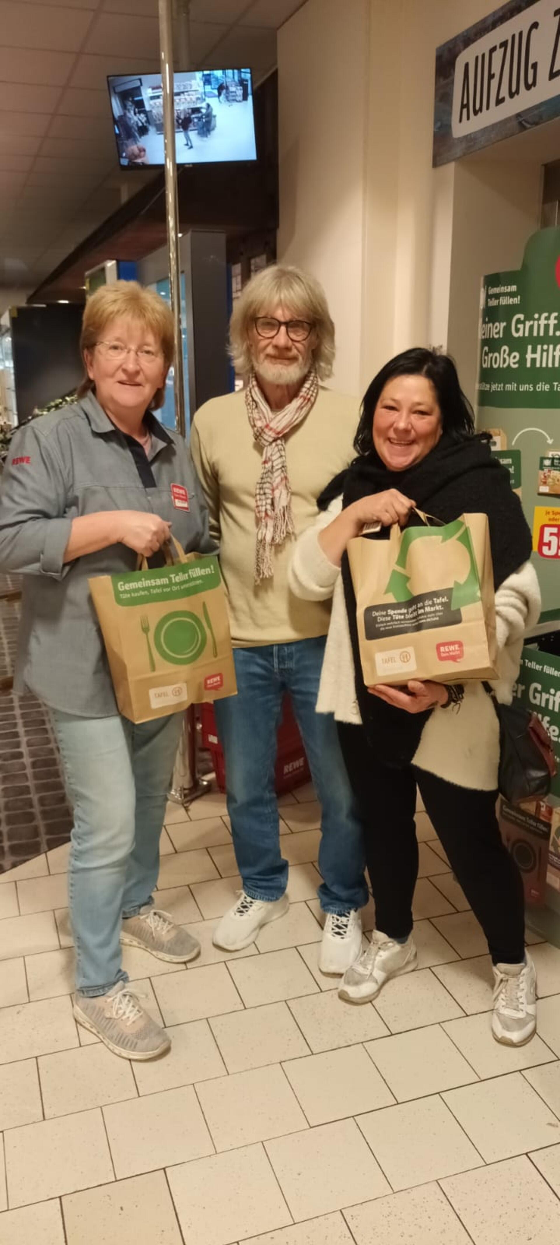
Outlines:
{"type": "Polygon", "coordinates": [[[215,701],[225,756],[228,813],[243,889],[253,899],[280,899],[287,862],[280,850],[274,789],[276,732],[289,691],[321,803],[321,908],[342,913],[367,903],[363,830],[340,751],[335,720],[316,713],[325,636],[235,649],[238,695],[215,701]]]}

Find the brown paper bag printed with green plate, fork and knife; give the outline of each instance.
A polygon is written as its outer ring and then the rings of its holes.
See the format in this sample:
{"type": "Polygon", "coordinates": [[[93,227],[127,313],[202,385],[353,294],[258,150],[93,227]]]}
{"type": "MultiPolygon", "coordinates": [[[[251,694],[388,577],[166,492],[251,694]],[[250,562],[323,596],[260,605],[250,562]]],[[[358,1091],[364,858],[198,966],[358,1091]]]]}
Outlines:
{"type": "Polygon", "coordinates": [[[121,713],[149,722],[236,692],[225,594],[215,555],[90,579],[121,713]]]}

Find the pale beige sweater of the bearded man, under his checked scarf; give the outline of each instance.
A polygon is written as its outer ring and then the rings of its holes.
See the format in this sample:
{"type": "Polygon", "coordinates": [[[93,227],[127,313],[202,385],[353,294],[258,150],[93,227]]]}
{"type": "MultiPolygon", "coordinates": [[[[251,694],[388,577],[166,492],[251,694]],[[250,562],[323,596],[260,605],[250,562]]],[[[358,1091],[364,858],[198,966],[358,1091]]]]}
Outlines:
{"type": "MultiPolygon", "coordinates": [[[[320,388],[305,420],[286,437],[296,537],[317,513],[317,497],[353,457],[358,422],[353,397],[320,388]]],[[[294,539],[273,549],[274,578],[255,584],[255,487],[261,452],[253,439],[243,392],[212,398],[197,411],[190,449],[220,545],[234,646],[286,644],[326,635],[330,600],[302,600],[289,588],[294,539]]]]}

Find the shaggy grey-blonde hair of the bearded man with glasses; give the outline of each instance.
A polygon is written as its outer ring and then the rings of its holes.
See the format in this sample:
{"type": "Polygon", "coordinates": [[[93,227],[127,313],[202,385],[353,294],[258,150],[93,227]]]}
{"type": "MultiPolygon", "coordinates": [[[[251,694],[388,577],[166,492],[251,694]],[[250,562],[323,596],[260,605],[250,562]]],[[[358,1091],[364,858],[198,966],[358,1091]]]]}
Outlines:
{"type": "Polygon", "coordinates": [[[259,315],[269,315],[278,305],[295,320],[311,320],[316,335],[314,364],[320,380],[332,375],[335,362],[335,325],[329,314],[322,285],[300,268],[271,264],[245,285],[234,303],[229,322],[229,354],[234,369],[248,376],[253,369],[249,330],[259,315]]]}

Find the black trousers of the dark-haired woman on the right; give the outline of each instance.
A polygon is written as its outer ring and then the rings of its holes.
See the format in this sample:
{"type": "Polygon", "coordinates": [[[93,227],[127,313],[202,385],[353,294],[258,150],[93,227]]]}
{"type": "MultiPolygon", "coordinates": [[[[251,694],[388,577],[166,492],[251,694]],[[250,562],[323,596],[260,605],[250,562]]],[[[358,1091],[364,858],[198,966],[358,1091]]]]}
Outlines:
{"type": "Polygon", "coordinates": [[[366,835],[366,859],[376,925],[388,937],[412,930],[418,876],[416,788],[488,941],[494,964],[520,964],[525,955],[523,881],[504,847],[495,791],[455,787],[423,769],[381,764],[362,726],[337,722],[350,781],[366,835]]]}

